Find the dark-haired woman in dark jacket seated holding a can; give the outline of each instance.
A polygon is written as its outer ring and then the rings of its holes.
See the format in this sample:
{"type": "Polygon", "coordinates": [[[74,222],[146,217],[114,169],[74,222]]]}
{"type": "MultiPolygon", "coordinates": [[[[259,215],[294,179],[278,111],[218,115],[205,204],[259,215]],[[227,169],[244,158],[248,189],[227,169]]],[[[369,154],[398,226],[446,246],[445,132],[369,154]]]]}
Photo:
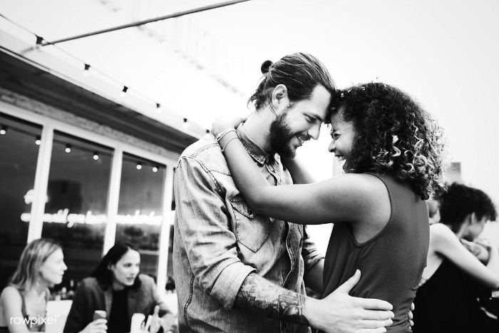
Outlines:
{"type": "Polygon", "coordinates": [[[76,290],[64,332],[130,332],[135,313],[153,315],[150,332],[168,332],[176,322],[156,291],[152,277],[139,274],[140,254],[131,245],[115,244],[76,290]],[[93,320],[96,310],[106,319],[93,320]],[[158,312],[165,313],[161,318],[158,312]]]}

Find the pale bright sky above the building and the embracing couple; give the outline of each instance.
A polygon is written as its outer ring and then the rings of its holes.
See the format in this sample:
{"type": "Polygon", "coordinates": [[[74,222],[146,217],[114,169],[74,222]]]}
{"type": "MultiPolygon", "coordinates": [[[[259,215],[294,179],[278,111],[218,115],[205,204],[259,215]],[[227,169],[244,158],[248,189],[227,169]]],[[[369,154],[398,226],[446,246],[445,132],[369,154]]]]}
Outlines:
{"type": "MultiPolygon", "coordinates": [[[[0,13],[53,41],[216,1],[2,0],[0,13]]],[[[303,51],[336,85],[382,81],[408,92],[446,129],[461,178],[499,203],[499,2],[253,0],[58,44],[93,68],[202,127],[247,113],[264,60],[303,51]]],[[[332,174],[327,130],[301,148],[332,174]]]]}

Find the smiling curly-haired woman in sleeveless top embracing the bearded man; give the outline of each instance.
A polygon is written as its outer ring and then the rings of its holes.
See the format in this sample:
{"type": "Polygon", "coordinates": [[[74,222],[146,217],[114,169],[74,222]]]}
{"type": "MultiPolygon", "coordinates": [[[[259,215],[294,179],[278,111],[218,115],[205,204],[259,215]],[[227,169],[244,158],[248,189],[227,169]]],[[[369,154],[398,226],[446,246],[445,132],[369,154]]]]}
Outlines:
{"type": "Polygon", "coordinates": [[[301,185],[269,185],[235,132],[224,131],[235,119],[219,118],[212,132],[223,134],[218,139],[232,178],[254,212],[299,224],[334,223],[322,297],[360,270],[350,295],[390,302],[395,317],[387,332],[408,332],[428,253],[425,200],[444,186],[442,130],[410,96],[384,83],[337,91],[328,122],[329,151],[345,161],[345,174],[311,183],[288,160],[301,185]]]}

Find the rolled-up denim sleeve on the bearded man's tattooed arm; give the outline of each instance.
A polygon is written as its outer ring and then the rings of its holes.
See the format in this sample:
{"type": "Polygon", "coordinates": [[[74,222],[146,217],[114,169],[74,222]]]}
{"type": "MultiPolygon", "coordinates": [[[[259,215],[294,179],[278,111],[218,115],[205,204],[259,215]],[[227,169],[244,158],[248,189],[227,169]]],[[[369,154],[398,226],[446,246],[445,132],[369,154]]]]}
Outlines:
{"type": "Polygon", "coordinates": [[[230,309],[253,267],[237,257],[230,215],[210,170],[190,156],[175,171],[175,214],[195,283],[230,309]]]}

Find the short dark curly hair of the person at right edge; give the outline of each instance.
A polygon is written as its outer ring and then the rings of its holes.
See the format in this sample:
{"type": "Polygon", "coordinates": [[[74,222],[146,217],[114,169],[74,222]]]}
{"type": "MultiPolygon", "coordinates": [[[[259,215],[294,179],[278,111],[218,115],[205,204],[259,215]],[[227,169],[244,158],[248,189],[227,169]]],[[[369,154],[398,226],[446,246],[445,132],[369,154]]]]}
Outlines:
{"type": "Polygon", "coordinates": [[[483,217],[495,220],[497,217],[492,200],[478,188],[452,183],[436,198],[440,201],[440,222],[451,226],[454,232],[459,230],[466,216],[473,212],[478,220],[483,217]]]}

